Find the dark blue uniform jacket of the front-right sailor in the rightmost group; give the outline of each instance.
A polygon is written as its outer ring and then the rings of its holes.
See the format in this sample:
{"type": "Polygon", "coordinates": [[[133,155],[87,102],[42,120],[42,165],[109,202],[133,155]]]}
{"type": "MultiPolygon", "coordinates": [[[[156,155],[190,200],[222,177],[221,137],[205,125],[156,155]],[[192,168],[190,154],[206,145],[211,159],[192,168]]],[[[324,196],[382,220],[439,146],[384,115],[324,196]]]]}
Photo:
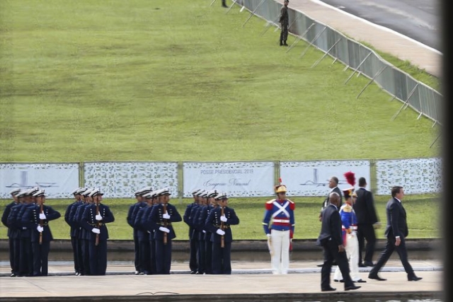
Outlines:
{"type": "MultiPolygon", "coordinates": [[[[222,207],[217,207],[215,209],[212,209],[210,211],[210,215],[207,216],[206,223],[205,223],[205,228],[207,231],[210,231],[211,233],[211,242],[213,243],[220,243],[222,236],[217,234],[217,230],[221,228],[222,226],[222,221],[220,220],[220,216],[222,214],[222,207]]],[[[225,242],[231,242],[233,241],[233,235],[231,233],[231,228],[230,226],[234,226],[236,224],[239,224],[239,218],[236,216],[236,212],[234,209],[231,209],[229,207],[224,207],[224,216],[226,217],[226,222],[224,222],[224,240],[225,242]]]]}

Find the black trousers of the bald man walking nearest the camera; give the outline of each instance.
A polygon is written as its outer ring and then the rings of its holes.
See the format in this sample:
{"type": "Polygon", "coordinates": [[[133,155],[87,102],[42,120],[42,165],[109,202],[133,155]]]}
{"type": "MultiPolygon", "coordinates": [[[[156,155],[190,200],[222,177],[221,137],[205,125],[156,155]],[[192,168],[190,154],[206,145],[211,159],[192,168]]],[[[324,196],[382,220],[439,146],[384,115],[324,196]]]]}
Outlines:
{"type": "Polygon", "coordinates": [[[321,289],[328,289],[331,286],[331,269],[332,262],[336,260],[338,268],[340,269],[343,280],[345,281],[345,287],[353,286],[354,282],[350,277],[348,257],[346,252],[338,252],[338,245],[332,240],[326,240],[323,243],[324,249],[324,263],[321,268],[321,289]]]}

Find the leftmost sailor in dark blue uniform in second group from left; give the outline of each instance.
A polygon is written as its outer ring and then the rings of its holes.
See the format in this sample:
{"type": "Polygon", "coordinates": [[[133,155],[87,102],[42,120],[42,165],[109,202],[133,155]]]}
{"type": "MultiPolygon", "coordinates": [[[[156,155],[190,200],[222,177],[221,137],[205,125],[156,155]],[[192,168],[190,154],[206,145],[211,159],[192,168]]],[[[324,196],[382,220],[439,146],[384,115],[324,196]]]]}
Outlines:
{"type": "Polygon", "coordinates": [[[76,276],[79,276],[81,272],[81,246],[79,246],[79,227],[76,226],[76,223],[71,220],[71,209],[73,207],[79,207],[83,204],[81,199],[81,193],[86,190],[85,187],[78,187],[76,190],[72,192],[74,194],[74,198],[76,199],[75,202],[69,204],[64,212],[64,221],[69,225],[70,231],[69,236],[71,237],[71,246],[72,246],[72,254],[74,257],[74,271],[76,272],[76,276]]]}

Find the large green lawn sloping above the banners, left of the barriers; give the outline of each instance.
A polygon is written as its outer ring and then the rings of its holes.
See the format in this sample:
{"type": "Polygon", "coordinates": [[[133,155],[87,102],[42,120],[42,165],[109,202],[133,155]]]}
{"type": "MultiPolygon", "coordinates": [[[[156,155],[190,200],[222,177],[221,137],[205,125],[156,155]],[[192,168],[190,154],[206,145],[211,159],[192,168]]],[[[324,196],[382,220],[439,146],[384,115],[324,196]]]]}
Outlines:
{"type": "MultiPolygon", "coordinates": [[[[437,156],[437,127],[210,1],[0,0],[0,161],[437,156]]],[[[294,37],[290,37],[294,39],[294,37]]],[[[292,41],[289,41],[292,42],[292,41]]]]}

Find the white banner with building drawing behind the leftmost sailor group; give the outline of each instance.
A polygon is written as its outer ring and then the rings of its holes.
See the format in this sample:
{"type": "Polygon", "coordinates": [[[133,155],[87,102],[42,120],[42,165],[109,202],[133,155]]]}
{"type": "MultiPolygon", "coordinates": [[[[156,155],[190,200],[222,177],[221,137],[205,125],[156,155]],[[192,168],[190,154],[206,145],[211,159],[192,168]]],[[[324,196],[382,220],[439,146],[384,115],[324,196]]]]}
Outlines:
{"type": "Polygon", "coordinates": [[[40,187],[47,198],[71,198],[79,187],[78,163],[0,163],[0,198],[14,188],[40,187]]]}

